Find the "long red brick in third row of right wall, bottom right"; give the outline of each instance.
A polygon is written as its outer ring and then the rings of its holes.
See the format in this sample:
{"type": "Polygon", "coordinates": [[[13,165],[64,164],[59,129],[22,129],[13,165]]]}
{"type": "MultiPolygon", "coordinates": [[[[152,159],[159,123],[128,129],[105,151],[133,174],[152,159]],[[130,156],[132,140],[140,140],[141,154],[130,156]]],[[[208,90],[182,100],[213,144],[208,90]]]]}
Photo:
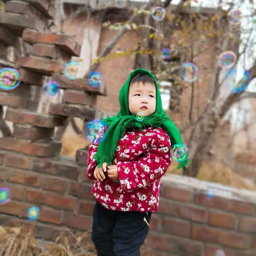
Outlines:
{"type": "Polygon", "coordinates": [[[247,249],[252,244],[251,236],[201,225],[192,225],[191,238],[236,249],[247,249]]]}

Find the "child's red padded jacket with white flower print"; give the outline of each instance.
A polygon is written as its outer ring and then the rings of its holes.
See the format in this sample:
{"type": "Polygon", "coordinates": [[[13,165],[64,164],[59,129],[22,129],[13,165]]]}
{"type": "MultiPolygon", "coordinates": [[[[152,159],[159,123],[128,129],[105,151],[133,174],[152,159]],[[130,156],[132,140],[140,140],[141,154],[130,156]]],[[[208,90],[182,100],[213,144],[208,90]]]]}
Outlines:
{"type": "MultiPolygon", "coordinates": [[[[87,176],[94,178],[97,165],[94,155],[98,146],[92,144],[88,154],[87,176]]],[[[158,210],[160,178],[171,164],[171,140],[163,128],[126,130],[118,141],[115,158],[119,180],[108,176],[96,180],[92,194],[107,209],[115,211],[155,212],[158,210]]]]}

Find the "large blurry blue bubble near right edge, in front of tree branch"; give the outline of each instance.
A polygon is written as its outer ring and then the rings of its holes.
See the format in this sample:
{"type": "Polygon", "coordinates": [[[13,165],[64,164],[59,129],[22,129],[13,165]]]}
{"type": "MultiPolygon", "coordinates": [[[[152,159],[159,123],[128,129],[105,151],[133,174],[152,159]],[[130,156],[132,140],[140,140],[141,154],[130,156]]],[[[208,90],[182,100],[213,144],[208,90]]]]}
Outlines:
{"type": "Polygon", "coordinates": [[[250,75],[246,70],[244,70],[243,76],[238,81],[236,78],[237,78],[236,68],[233,68],[228,72],[228,75],[227,75],[229,87],[231,91],[234,93],[243,92],[247,88],[250,82],[250,79],[251,79],[250,75]]]}

